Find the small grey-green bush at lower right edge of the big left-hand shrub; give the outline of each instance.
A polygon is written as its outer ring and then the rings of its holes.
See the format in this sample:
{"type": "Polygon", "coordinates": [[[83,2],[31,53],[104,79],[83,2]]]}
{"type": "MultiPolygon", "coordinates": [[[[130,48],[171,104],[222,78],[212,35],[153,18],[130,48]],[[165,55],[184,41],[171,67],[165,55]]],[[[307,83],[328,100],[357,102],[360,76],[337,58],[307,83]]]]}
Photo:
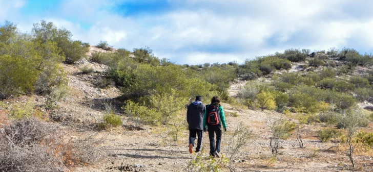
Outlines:
{"type": "Polygon", "coordinates": [[[70,88],[68,85],[58,85],[47,96],[46,105],[49,108],[55,108],[57,103],[69,94],[70,88]]]}

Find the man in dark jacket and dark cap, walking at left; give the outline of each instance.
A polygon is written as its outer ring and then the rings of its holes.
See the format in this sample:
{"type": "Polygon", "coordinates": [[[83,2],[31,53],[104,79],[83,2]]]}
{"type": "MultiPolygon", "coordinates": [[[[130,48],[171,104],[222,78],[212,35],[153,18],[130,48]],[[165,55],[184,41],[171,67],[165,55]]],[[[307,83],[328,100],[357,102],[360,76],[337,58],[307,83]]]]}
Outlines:
{"type": "Polygon", "coordinates": [[[189,153],[193,153],[194,141],[198,136],[196,152],[201,150],[203,115],[206,107],[202,104],[202,97],[196,96],[196,101],[188,106],[187,122],[189,125],[189,153]]]}

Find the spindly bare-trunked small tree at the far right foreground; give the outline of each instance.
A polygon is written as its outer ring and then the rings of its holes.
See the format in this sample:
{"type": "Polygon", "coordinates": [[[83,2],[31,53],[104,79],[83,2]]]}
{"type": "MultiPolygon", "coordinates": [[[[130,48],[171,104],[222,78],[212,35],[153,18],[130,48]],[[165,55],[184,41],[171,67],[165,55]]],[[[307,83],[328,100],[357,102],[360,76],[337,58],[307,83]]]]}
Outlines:
{"type": "Polygon", "coordinates": [[[344,111],[338,118],[339,124],[347,130],[347,143],[349,145],[349,151],[347,155],[351,161],[351,164],[353,165],[353,168],[355,168],[355,162],[353,158],[355,146],[353,145],[352,140],[361,126],[363,126],[367,118],[361,109],[351,109],[344,111]]]}

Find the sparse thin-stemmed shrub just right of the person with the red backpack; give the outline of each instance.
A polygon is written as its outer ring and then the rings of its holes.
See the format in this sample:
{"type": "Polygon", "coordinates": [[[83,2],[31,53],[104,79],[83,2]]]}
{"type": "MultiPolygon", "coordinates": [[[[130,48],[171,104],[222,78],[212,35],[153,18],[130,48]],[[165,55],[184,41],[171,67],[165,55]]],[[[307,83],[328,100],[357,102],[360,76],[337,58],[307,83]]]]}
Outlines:
{"type": "Polygon", "coordinates": [[[227,158],[229,159],[229,169],[234,172],[236,171],[232,162],[236,157],[237,153],[241,150],[241,147],[244,146],[251,138],[253,137],[253,130],[247,129],[242,123],[237,125],[233,134],[229,137],[227,141],[227,158]]]}

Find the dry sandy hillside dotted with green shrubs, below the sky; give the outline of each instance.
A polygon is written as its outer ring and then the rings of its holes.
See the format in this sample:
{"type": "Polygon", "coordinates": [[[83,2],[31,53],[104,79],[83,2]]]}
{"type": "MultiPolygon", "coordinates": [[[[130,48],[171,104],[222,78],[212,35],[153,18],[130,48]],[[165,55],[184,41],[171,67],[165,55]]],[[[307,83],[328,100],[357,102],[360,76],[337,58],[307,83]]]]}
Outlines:
{"type": "Polygon", "coordinates": [[[32,39],[0,39],[0,170],[373,169],[371,55],[289,49],[244,64],[178,65],[149,47],[93,46],[38,29],[32,39]],[[185,105],[196,95],[221,99],[225,157],[237,131],[252,131],[232,159],[206,156],[208,133],[202,153],[188,152],[185,105]]]}

